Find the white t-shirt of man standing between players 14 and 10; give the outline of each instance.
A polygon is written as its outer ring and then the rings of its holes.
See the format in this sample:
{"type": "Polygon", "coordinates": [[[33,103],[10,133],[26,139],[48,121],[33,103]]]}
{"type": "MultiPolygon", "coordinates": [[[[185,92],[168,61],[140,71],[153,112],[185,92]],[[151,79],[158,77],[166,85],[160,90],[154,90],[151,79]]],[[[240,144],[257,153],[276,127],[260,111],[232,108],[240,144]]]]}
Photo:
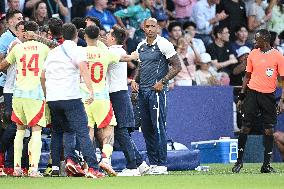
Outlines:
{"type": "Polygon", "coordinates": [[[74,41],[66,40],[51,50],[44,64],[46,101],[80,99],[80,62],[87,62],[87,53],[74,41]],[[71,60],[72,59],[72,60],[71,60]]]}

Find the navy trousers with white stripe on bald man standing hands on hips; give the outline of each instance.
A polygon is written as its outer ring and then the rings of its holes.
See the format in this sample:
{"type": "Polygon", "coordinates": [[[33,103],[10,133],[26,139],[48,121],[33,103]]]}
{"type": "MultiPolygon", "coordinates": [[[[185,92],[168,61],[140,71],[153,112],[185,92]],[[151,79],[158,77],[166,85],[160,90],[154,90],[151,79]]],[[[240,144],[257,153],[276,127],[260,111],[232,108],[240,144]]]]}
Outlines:
{"type": "Polygon", "coordinates": [[[166,91],[156,93],[151,88],[139,90],[142,132],[151,165],[167,162],[166,91]]]}

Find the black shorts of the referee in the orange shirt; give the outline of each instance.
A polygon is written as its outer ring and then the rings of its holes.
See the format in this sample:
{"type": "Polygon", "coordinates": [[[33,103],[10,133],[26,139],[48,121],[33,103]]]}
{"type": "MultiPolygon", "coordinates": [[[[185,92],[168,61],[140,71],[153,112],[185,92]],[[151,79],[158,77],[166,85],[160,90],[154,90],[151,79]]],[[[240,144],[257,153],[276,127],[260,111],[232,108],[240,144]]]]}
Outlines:
{"type": "Polygon", "coordinates": [[[242,111],[246,126],[252,125],[259,113],[262,115],[264,125],[275,125],[277,123],[275,94],[248,89],[242,111]]]}

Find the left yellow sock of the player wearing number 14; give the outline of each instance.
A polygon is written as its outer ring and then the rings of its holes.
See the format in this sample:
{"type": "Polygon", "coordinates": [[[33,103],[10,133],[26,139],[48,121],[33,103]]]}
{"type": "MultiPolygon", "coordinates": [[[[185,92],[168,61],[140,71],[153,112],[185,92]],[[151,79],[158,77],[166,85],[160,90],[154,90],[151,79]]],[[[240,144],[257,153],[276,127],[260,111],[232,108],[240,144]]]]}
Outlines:
{"type": "Polygon", "coordinates": [[[23,140],[25,137],[25,130],[17,130],[14,139],[14,167],[21,168],[21,159],[23,153],[23,140]]]}

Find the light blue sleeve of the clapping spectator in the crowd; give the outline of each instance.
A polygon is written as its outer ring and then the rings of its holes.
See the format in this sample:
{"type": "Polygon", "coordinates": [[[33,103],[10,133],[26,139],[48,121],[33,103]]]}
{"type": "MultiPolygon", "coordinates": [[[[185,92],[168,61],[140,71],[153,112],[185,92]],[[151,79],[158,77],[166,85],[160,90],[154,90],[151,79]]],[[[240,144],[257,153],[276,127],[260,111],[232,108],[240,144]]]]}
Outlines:
{"type": "Polygon", "coordinates": [[[200,6],[199,4],[196,4],[196,6],[194,6],[192,10],[193,10],[192,17],[193,17],[194,22],[197,25],[197,29],[205,30],[206,28],[208,28],[210,26],[210,23],[208,22],[208,20],[205,19],[202,6],[200,6]]]}

